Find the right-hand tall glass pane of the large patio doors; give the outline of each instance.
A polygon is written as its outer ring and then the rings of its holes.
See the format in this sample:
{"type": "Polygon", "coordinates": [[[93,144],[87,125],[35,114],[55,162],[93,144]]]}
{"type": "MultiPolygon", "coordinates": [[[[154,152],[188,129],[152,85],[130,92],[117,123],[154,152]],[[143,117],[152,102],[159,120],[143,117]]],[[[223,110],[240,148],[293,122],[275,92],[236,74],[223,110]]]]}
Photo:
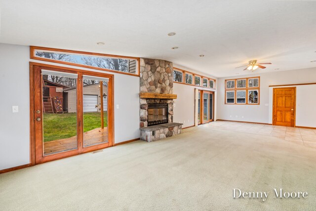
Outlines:
{"type": "Polygon", "coordinates": [[[83,147],[108,142],[108,84],[104,81],[83,78],[83,147]]]}

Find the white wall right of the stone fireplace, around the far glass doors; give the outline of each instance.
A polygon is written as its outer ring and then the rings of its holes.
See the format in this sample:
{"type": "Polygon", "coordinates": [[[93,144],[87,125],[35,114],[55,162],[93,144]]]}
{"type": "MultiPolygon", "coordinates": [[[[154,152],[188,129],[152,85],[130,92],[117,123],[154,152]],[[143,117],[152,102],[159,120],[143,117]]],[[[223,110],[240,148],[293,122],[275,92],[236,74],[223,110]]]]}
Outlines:
{"type": "MultiPolygon", "coordinates": [[[[211,77],[216,79],[214,77],[211,77]]],[[[187,84],[173,83],[173,93],[177,94],[175,99],[176,106],[173,108],[173,122],[183,123],[182,127],[194,126],[194,113],[195,113],[195,89],[197,87],[187,84]]],[[[204,90],[211,90],[198,87],[204,90]]],[[[216,120],[216,90],[214,93],[214,120],[216,120]]]]}

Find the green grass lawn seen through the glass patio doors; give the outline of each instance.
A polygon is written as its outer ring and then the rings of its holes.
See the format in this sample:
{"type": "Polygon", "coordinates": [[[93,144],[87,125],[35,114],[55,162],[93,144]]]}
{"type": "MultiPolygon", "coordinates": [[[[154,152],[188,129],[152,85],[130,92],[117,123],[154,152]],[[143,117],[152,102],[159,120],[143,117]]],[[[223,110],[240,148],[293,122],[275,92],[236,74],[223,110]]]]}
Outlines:
{"type": "MultiPolygon", "coordinates": [[[[108,114],[104,112],[104,127],[107,127],[108,114]]],[[[101,127],[101,112],[83,113],[83,132],[101,127]]],[[[77,113],[44,114],[44,142],[70,138],[77,135],[77,113]]]]}

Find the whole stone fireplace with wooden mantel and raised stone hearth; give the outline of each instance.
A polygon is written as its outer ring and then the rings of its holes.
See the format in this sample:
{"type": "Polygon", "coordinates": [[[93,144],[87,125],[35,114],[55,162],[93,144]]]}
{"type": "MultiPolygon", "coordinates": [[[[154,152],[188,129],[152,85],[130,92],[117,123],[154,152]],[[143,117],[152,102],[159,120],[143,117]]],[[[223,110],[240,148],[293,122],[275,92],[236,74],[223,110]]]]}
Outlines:
{"type": "Polygon", "coordinates": [[[181,133],[173,123],[173,64],[158,59],[140,59],[141,139],[155,141],[181,133]]]}

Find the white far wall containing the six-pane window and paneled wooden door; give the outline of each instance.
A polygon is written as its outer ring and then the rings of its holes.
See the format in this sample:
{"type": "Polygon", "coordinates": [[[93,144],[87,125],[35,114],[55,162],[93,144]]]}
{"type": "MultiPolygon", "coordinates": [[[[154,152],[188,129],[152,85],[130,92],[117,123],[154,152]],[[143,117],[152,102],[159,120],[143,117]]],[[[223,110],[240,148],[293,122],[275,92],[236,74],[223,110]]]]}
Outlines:
{"type": "MultiPolygon", "coordinates": [[[[220,78],[218,80],[217,119],[272,124],[272,88],[269,85],[316,83],[316,68],[280,71],[275,73],[251,74],[220,78]],[[229,105],[225,104],[225,80],[243,77],[260,76],[260,105],[229,105]],[[242,118],[243,117],[243,118],[242,118]]],[[[312,86],[311,86],[312,87],[312,86]]],[[[312,87],[314,89],[314,86],[312,87]]],[[[297,86],[296,125],[316,127],[316,121],[308,120],[307,116],[316,115],[315,89],[309,92],[309,103],[306,96],[308,86],[297,86]],[[304,112],[302,112],[304,111],[304,112]],[[306,114],[308,112],[308,115],[306,114]]]]}

